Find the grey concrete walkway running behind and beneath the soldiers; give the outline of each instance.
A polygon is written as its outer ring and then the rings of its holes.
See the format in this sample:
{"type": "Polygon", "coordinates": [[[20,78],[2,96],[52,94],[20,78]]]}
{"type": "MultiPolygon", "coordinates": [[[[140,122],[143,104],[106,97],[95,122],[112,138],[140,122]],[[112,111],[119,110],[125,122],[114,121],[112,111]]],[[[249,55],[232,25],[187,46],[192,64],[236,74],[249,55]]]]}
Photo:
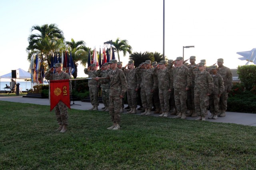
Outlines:
{"type": "MultiPolygon", "coordinates": [[[[14,97],[0,96],[0,100],[8,101],[8,102],[30,103],[30,104],[39,104],[39,105],[50,106],[48,99],[23,98],[22,96],[14,96],[14,97]]],[[[73,101],[71,101],[70,104],[73,104],[73,101]]],[[[125,105],[125,107],[126,106],[127,105],[125,105]]],[[[74,105],[71,105],[70,107],[71,107],[71,109],[88,110],[92,107],[92,105],[88,102],[74,101],[74,105]]],[[[103,104],[100,104],[100,106],[98,108],[101,109],[102,107],[104,107],[103,104]]],[[[124,112],[126,112],[126,109],[124,109],[124,112]]],[[[140,115],[139,111],[137,111],[137,115],[140,115]]],[[[158,116],[158,115],[159,114],[153,114],[153,111],[152,111],[152,116],[158,116]]],[[[168,115],[168,118],[172,118],[174,116],[175,115],[168,115]]],[[[208,111],[208,116],[210,116],[209,111],[208,111]]],[[[196,119],[196,117],[187,117],[186,119],[194,120],[194,119],[196,119]]],[[[256,114],[226,112],[226,117],[218,117],[218,119],[216,119],[216,120],[208,119],[206,117],[206,121],[222,122],[222,123],[236,123],[236,124],[241,124],[241,125],[256,126],[256,114]]]]}

